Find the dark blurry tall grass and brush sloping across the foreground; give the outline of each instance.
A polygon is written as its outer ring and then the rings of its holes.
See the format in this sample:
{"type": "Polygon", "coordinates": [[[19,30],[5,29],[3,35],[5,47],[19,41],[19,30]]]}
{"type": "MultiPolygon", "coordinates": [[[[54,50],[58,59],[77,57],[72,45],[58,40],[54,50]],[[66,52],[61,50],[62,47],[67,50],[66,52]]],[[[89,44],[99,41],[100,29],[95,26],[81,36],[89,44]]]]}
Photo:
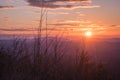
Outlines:
{"type": "Polygon", "coordinates": [[[66,54],[69,46],[57,39],[44,46],[37,40],[33,45],[23,39],[14,39],[7,47],[0,45],[0,80],[115,80],[85,50],[66,54]]]}

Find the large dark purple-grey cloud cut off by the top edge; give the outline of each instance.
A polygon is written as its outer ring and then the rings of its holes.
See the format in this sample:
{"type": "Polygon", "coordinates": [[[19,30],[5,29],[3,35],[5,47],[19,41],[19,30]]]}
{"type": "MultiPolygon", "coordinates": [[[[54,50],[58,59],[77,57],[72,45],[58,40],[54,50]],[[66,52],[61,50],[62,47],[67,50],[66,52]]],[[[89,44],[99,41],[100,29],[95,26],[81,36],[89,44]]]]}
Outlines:
{"type": "Polygon", "coordinates": [[[30,6],[45,8],[94,8],[91,0],[26,0],[30,6]]]}

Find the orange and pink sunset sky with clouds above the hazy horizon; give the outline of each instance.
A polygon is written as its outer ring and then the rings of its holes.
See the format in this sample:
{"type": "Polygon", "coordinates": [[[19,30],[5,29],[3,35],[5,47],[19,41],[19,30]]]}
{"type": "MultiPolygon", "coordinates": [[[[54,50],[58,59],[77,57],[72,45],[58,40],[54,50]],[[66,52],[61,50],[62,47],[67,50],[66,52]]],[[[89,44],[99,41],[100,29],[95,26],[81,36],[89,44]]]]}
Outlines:
{"type": "Polygon", "coordinates": [[[120,36],[120,0],[0,0],[0,34],[35,33],[43,7],[43,32],[120,36]]]}

